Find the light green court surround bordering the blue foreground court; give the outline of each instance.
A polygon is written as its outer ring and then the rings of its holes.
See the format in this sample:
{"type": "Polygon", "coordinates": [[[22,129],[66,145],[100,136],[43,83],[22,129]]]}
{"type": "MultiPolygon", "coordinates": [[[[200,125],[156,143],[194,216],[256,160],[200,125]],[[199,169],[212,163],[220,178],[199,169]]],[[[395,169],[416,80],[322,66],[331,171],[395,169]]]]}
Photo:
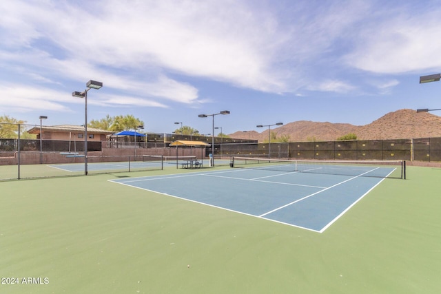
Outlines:
{"type": "Polygon", "coordinates": [[[441,289],[441,169],[383,180],[323,233],[108,181],[176,172],[0,182],[0,293],[441,289]]]}

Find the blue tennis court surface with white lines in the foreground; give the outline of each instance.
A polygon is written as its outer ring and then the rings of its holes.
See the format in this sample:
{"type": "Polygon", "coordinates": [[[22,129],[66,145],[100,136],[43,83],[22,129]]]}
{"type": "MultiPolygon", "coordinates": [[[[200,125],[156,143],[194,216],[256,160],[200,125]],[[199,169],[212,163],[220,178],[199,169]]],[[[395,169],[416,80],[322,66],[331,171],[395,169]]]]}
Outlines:
{"type": "MultiPolygon", "coordinates": [[[[382,168],[384,176],[392,171],[390,167],[382,168]]],[[[111,182],[321,233],[382,180],[384,178],[225,169],[111,182]]]]}

